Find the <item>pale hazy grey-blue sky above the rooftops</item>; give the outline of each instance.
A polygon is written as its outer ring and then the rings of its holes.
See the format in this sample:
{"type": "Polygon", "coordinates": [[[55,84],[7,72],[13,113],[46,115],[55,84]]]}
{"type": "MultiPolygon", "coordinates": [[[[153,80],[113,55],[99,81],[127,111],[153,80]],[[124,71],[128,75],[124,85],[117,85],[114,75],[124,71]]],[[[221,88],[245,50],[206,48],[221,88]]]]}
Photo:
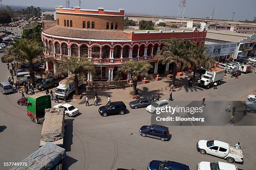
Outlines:
{"type": "MultiPolygon", "coordinates": [[[[81,0],[84,9],[106,10],[125,9],[126,13],[177,16],[179,0],[81,0]]],[[[70,0],[70,7],[79,6],[79,0],[70,0]]],[[[253,20],[256,17],[256,0],[187,0],[185,17],[210,17],[234,20],[253,20]]],[[[5,5],[34,5],[36,7],[54,7],[63,5],[66,0],[3,0],[5,5]]]]}

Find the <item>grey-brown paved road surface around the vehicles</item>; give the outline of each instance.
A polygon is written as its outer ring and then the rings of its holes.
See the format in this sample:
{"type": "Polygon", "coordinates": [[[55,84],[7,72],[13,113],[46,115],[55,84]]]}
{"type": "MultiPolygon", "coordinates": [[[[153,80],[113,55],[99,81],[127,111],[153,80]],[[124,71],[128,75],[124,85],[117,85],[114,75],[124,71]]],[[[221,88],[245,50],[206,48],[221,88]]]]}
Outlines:
{"type": "MultiPolygon", "coordinates": [[[[1,53],[2,51],[0,51],[1,53]]],[[[3,54],[0,54],[2,57],[3,54]]],[[[0,81],[6,81],[8,70],[0,63],[0,81]]],[[[174,92],[178,100],[238,100],[241,96],[256,90],[256,74],[247,74],[239,79],[229,79],[218,90],[189,90],[174,92]]],[[[139,86],[143,88],[143,85],[139,86]]],[[[167,98],[166,93],[163,98],[167,98]]],[[[4,162],[18,162],[38,149],[41,126],[31,122],[26,107],[17,105],[20,94],[0,94],[0,169],[4,162]],[[4,128],[6,127],[6,128],[4,128]]],[[[115,97],[112,97],[115,100],[115,97]]],[[[115,170],[134,168],[146,170],[151,160],[173,160],[196,169],[200,161],[225,160],[211,155],[201,155],[196,150],[198,140],[222,140],[235,145],[241,143],[244,164],[238,168],[253,170],[256,165],[256,127],[254,126],[170,126],[170,141],[161,142],[143,138],[138,134],[142,125],[151,123],[151,115],[145,109],[132,110],[126,115],[101,117],[98,107],[73,103],[82,114],[67,117],[64,148],[67,150],[64,169],[69,170],[115,170]]],[[[54,105],[54,103],[52,103],[54,105]]],[[[248,118],[256,120],[255,115],[248,118]]]]}

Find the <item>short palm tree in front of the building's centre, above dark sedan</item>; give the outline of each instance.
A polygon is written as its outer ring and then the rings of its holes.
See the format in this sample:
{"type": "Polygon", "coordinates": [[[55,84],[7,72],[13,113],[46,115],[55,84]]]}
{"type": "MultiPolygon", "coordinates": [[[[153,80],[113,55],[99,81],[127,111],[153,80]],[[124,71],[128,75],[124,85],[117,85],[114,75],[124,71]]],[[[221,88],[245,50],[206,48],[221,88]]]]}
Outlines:
{"type": "Polygon", "coordinates": [[[153,66],[146,61],[128,61],[122,63],[120,67],[118,67],[118,72],[123,72],[124,74],[131,74],[131,79],[133,80],[133,92],[135,92],[137,89],[137,82],[140,77],[147,77],[148,79],[152,78],[152,76],[148,74],[148,71],[152,67],[153,66]]]}

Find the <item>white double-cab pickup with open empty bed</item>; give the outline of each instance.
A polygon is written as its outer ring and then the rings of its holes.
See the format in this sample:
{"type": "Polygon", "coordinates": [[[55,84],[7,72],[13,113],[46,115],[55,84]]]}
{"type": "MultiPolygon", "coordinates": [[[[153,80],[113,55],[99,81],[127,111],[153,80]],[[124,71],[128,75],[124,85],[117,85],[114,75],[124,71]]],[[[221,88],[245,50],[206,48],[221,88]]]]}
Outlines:
{"type": "Polygon", "coordinates": [[[243,151],[231,147],[228,143],[218,140],[199,140],[197,151],[201,154],[215,155],[226,159],[229,163],[243,162],[243,151]]]}

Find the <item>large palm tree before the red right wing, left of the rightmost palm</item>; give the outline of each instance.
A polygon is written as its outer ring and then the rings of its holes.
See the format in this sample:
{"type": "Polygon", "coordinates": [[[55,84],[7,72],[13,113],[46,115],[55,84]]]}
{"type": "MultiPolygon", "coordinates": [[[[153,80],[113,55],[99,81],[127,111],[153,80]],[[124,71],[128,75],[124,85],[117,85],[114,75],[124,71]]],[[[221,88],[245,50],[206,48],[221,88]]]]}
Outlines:
{"type": "Polygon", "coordinates": [[[156,59],[162,64],[173,64],[172,83],[175,84],[177,68],[190,67],[189,50],[191,44],[185,40],[167,40],[163,42],[162,49],[156,53],[156,59]]]}

